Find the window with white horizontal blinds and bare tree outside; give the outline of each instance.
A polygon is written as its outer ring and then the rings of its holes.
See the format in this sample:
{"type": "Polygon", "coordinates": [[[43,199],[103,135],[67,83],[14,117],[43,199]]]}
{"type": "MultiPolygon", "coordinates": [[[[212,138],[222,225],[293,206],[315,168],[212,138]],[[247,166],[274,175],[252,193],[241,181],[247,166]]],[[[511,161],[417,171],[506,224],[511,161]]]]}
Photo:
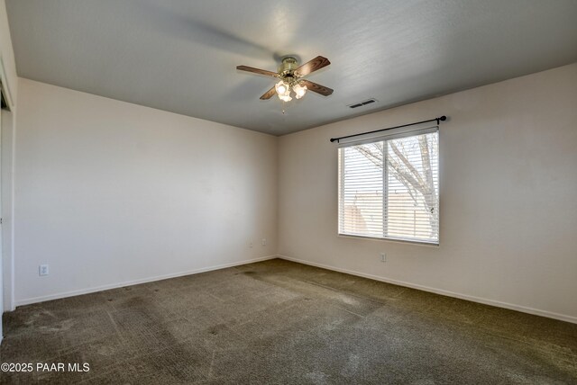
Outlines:
{"type": "Polygon", "coordinates": [[[339,234],[439,242],[438,128],[339,148],[339,234]]]}

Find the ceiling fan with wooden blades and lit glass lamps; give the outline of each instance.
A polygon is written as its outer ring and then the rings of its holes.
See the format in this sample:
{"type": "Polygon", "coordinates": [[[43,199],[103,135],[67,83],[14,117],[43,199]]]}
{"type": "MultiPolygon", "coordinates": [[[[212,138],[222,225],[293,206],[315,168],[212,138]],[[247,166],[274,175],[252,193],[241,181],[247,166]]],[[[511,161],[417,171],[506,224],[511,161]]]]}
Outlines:
{"type": "Polygon", "coordinates": [[[317,85],[316,83],[303,78],[304,76],[326,67],[329,64],[331,64],[331,62],[328,61],[328,58],[317,56],[298,67],[298,60],[288,56],[282,59],[282,64],[280,65],[278,72],[247,66],[238,66],[236,69],[279,78],[279,82],[273,85],[269,91],[264,93],[261,96],[261,100],[268,100],[272,95],[278,94],[281,101],[290,102],[292,100],[292,97],[290,96],[291,92],[295,94],[297,99],[303,97],[307,93],[307,90],[316,94],[322,94],[323,96],[333,94],[332,89],[325,87],[324,85],[317,85]]]}

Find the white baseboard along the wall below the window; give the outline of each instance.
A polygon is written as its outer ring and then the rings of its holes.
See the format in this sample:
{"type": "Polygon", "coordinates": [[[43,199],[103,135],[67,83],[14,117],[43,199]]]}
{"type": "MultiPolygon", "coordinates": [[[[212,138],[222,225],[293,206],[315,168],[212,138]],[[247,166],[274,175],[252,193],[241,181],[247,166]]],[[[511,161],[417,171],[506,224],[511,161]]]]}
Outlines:
{"type": "Polygon", "coordinates": [[[474,297],[472,295],[461,294],[461,293],[454,292],[454,291],[445,291],[442,289],[435,289],[432,287],[423,286],[423,285],[419,285],[419,284],[415,284],[415,283],[391,280],[389,278],[383,278],[383,277],[380,277],[377,275],[355,272],[353,270],[342,269],[339,267],[329,266],[327,264],[316,264],[315,262],[309,262],[309,261],[305,261],[303,259],[293,258],[293,257],[286,256],[286,255],[277,255],[277,256],[280,259],[286,259],[287,261],[297,262],[298,264],[309,264],[311,266],[320,267],[320,268],[323,268],[326,270],[333,270],[334,272],[347,273],[347,274],[356,275],[356,276],[363,277],[363,278],[369,278],[369,279],[374,280],[374,281],[392,283],[392,284],[395,284],[398,286],[404,286],[404,287],[408,287],[411,289],[417,289],[420,291],[434,292],[435,294],[441,294],[441,295],[445,295],[447,297],[458,298],[460,300],[471,300],[472,302],[479,302],[479,303],[482,303],[485,305],[495,306],[497,308],[516,310],[516,311],[520,311],[523,313],[533,314],[536,316],[541,316],[541,317],[546,317],[546,318],[554,318],[554,319],[558,319],[560,321],[571,322],[573,324],[577,324],[577,317],[566,316],[564,314],[558,314],[558,313],[554,313],[551,311],[527,308],[525,306],[514,305],[512,303],[501,302],[499,300],[488,300],[485,298],[474,297]]]}

